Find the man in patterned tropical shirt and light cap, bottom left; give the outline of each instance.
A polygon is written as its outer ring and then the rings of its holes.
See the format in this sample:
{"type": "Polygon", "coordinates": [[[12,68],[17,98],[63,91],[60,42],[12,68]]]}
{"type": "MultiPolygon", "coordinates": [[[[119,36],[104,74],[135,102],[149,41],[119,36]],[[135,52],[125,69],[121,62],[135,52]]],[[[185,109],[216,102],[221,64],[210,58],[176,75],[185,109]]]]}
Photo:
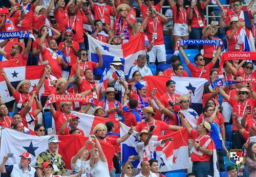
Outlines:
{"type": "Polygon", "coordinates": [[[50,162],[53,165],[52,174],[65,176],[67,168],[65,162],[60,154],[57,154],[58,141],[56,138],[50,138],[48,140],[48,150],[40,153],[36,159],[36,173],[38,177],[42,177],[41,166],[44,162],[50,162]]]}

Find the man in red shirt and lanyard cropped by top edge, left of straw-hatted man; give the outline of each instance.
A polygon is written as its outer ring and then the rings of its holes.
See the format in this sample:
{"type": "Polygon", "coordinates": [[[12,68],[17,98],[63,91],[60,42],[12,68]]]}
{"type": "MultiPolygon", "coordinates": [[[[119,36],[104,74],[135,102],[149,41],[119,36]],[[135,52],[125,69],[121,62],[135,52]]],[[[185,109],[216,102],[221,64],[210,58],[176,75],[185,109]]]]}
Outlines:
{"type": "Polygon", "coordinates": [[[92,11],[94,12],[94,19],[100,19],[102,23],[110,26],[110,16],[116,16],[116,8],[114,6],[114,0],[110,0],[111,6],[106,5],[103,0],[98,0],[97,3],[93,3],[92,0],[88,1],[92,11]]]}

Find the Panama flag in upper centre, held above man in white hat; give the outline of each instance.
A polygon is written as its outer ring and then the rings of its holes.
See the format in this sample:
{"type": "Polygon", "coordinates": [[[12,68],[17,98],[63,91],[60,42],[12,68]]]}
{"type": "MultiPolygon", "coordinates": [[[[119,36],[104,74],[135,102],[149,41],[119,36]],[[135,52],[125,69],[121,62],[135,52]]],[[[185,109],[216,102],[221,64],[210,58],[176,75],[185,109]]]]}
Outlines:
{"type": "MultiPolygon", "coordinates": [[[[136,38],[121,45],[110,45],[94,39],[88,35],[89,42],[89,60],[99,61],[98,55],[95,53],[95,48],[98,47],[103,58],[103,66],[100,69],[94,69],[94,74],[101,75],[105,68],[109,68],[114,57],[119,57],[124,64],[124,74],[127,75],[129,69],[134,65],[138,55],[145,54],[145,44],[143,33],[139,33],[136,38]]],[[[123,67],[121,67],[123,70],[123,67]]]]}

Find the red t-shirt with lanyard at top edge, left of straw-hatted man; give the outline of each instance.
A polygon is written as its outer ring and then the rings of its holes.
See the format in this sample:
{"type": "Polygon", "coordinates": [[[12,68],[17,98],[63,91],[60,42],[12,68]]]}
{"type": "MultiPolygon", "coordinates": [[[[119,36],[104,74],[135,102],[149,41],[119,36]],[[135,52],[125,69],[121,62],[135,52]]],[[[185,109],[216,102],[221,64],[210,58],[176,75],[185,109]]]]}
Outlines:
{"type": "Polygon", "coordinates": [[[104,19],[105,23],[110,26],[110,16],[114,14],[113,7],[111,7],[110,5],[99,6],[94,3],[92,11],[94,12],[95,20],[104,19]]]}

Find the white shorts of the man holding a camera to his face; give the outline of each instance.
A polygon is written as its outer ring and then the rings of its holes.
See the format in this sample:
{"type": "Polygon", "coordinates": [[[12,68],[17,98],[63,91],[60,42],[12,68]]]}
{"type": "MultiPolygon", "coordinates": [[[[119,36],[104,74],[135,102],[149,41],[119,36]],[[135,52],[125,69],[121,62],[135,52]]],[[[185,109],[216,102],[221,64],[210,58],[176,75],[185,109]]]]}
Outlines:
{"type": "Polygon", "coordinates": [[[150,56],[150,62],[156,62],[156,57],[158,62],[166,62],[166,51],[164,44],[154,45],[147,54],[150,56]]]}

